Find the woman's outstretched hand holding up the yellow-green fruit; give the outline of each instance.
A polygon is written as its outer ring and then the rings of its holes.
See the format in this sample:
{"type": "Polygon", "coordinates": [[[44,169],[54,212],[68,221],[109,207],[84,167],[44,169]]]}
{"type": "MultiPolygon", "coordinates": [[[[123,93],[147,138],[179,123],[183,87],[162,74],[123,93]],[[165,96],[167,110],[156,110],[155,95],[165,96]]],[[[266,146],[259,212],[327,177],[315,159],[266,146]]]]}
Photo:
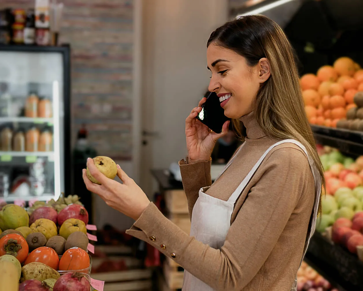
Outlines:
{"type": "Polygon", "coordinates": [[[123,184],[103,175],[91,158],[87,159],[87,167],[91,175],[101,183],[101,185],[92,183],[87,178],[86,170],[83,169],[83,181],[87,189],[100,196],[110,207],[137,220],[150,204],[144,191],[126,175],[119,165],[117,165],[117,175],[123,184]]]}

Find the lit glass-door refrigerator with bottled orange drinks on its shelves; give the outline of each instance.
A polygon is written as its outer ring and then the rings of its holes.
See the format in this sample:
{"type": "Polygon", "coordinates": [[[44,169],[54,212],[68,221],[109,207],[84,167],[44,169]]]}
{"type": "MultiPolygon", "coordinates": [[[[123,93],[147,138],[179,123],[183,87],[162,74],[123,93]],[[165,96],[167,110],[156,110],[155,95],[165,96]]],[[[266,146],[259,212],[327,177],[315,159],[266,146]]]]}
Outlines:
{"type": "Polygon", "coordinates": [[[0,201],[70,191],[70,49],[0,46],[0,201]]]}

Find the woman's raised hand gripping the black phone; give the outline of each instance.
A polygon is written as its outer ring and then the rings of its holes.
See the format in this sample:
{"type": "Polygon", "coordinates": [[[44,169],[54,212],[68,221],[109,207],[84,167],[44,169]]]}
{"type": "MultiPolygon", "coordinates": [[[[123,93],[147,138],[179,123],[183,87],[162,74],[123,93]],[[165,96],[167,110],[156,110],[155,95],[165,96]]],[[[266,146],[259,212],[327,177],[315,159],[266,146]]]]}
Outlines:
{"type": "Polygon", "coordinates": [[[205,97],[201,99],[198,107],[193,108],[185,120],[185,136],[187,138],[189,163],[208,161],[216,141],[228,132],[230,121],[224,122],[221,133],[215,133],[207,125],[204,125],[196,119],[197,114],[202,109],[201,105],[206,100],[207,98],[205,97]]]}

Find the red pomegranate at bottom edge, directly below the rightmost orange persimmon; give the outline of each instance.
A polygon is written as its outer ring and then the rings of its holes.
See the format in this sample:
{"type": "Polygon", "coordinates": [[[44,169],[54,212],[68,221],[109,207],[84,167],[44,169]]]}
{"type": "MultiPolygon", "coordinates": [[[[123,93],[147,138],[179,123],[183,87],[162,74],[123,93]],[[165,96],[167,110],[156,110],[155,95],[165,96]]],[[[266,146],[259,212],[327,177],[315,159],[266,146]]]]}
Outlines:
{"type": "Polygon", "coordinates": [[[66,273],[54,284],[53,291],[89,291],[91,288],[87,278],[82,273],[66,273]]]}

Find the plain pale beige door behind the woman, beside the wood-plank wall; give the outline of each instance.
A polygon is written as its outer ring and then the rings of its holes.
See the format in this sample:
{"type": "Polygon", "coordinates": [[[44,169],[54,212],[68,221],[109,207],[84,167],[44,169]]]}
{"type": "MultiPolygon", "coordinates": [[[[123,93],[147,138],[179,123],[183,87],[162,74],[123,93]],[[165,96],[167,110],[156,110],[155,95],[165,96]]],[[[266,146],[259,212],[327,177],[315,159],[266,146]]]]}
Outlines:
{"type": "Polygon", "coordinates": [[[187,154],[185,118],[209,83],[206,43],[227,14],[227,0],[143,3],[140,186],[150,199],[157,190],[150,169],[187,154]]]}

